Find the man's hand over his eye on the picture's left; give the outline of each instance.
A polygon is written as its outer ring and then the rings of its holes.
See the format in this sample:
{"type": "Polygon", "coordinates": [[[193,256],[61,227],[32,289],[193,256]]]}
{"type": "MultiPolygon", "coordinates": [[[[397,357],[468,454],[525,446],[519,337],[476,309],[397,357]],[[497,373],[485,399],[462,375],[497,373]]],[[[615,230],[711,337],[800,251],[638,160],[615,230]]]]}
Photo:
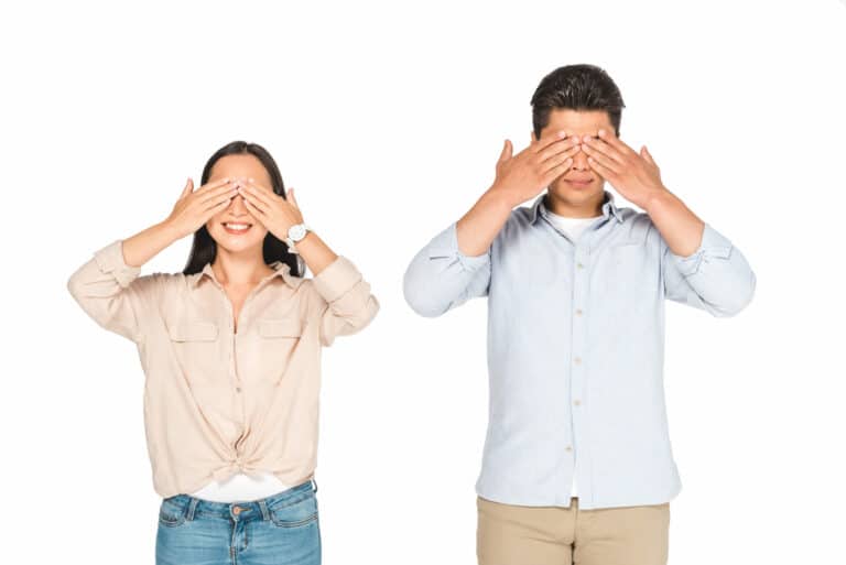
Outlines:
{"type": "Polygon", "coordinates": [[[538,196],[573,164],[579,145],[577,135],[567,137],[564,131],[553,131],[540,140],[532,132],[532,143],[512,156],[511,141],[506,140],[491,191],[506,195],[512,207],[538,196]]]}

